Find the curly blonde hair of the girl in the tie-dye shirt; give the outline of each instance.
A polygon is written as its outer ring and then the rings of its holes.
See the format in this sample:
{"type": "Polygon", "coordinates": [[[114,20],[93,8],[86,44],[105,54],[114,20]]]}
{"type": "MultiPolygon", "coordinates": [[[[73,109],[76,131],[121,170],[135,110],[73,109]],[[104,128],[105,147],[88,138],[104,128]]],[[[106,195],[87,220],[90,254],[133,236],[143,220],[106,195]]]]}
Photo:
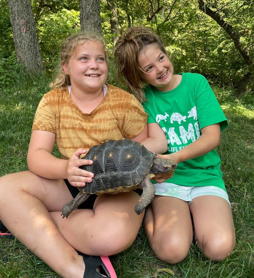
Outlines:
{"type": "Polygon", "coordinates": [[[106,61],[108,61],[106,43],[101,34],[80,32],[69,36],[61,43],[56,78],[49,85],[52,90],[57,88],[64,89],[66,86],[71,85],[69,75],[67,75],[63,70],[63,64],[68,64],[71,55],[76,48],[87,41],[98,41],[102,45],[106,61]]]}

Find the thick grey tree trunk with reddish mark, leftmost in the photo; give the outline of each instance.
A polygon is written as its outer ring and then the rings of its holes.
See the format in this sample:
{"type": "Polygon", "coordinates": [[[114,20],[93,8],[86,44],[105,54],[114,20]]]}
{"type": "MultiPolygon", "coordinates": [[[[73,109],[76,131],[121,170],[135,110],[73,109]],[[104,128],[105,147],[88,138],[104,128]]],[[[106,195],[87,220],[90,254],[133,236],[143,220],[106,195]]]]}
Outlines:
{"type": "Polygon", "coordinates": [[[31,0],[8,0],[16,56],[34,73],[43,71],[31,0]]]}

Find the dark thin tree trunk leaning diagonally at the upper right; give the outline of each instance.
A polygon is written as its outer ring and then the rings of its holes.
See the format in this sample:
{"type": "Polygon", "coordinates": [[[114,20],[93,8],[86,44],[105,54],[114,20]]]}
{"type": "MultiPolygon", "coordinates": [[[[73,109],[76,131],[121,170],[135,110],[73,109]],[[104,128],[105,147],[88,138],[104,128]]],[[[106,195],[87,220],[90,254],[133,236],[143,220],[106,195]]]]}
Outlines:
{"type": "Polygon", "coordinates": [[[246,87],[248,86],[248,83],[250,83],[250,81],[253,79],[254,66],[248,48],[242,45],[240,41],[240,37],[235,33],[233,27],[230,24],[226,23],[226,21],[223,20],[217,12],[214,12],[210,8],[205,6],[203,0],[198,0],[198,5],[200,11],[203,11],[205,14],[207,14],[212,19],[214,19],[221,26],[221,28],[223,28],[226,31],[226,33],[233,40],[233,43],[235,44],[235,48],[240,52],[245,63],[249,66],[248,73],[245,74],[244,77],[237,84],[235,84],[235,88],[237,90],[237,96],[240,97],[246,91],[246,87]]]}

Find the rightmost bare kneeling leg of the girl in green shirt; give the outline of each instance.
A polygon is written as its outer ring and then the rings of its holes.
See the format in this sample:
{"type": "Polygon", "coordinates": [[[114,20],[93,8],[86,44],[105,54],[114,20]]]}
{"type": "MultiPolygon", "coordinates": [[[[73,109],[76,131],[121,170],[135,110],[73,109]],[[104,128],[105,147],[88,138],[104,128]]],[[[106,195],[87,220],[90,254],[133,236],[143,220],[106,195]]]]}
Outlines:
{"type": "Polygon", "coordinates": [[[235,246],[235,229],[229,203],[218,196],[200,196],[190,203],[198,247],[208,259],[223,260],[235,246]]]}

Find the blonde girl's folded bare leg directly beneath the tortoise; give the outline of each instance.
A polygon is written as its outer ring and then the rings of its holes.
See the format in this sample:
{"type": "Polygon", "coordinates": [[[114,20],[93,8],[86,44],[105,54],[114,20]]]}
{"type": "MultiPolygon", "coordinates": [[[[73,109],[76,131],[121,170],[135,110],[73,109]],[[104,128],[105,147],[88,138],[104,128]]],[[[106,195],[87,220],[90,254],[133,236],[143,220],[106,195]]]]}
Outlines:
{"type": "Polygon", "coordinates": [[[144,215],[134,211],[138,199],[133,191],[102,194],[96,199],[94,210],[74,210],[68,219],[62,219],[61,212],[50,214],[75,249],[88,255],[108,256],[126,250],[135,240],[144,215]]]}

